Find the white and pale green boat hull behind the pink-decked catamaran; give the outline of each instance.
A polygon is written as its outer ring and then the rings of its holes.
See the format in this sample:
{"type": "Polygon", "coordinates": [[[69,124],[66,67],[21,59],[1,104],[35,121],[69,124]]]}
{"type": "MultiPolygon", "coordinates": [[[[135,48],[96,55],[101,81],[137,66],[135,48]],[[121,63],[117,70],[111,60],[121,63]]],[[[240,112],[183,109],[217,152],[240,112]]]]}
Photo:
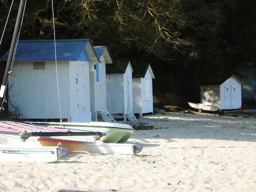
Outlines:
{"type": "MultiPolygon", "coordinates": [[[[61,123],[58,122],[25,122],[35,125],[45,126],[45,127],[61,127],[61,123]]],[[[132,126],[122,123],[106,123],[106,122],[90,122],[90,123],[62,123],[62,127],[70,130],[79,131],[96,131],[96,132],[106,132],[106,136],[102,136],[100,141],[104,143],[124,143],[126,142],[134,129],[132,126]]],[[[52,137],[56,138],[56,137],[52,137]]],[[[93,136],[74,136],[70,137],[70,140],[74,141],[87,141],[94,142],[95,138],[93,136]]]]}

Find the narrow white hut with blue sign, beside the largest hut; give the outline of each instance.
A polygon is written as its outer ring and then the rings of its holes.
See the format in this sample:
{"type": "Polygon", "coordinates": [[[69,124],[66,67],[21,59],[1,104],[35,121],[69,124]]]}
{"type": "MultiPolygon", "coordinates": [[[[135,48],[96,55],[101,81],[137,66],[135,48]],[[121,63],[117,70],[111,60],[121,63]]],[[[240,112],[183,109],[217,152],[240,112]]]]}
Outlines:
{"type": "Polygon", "coordinates": [[[90,101],[92,121],[97,121],[100,115],[106,122],[116,123],[107,111],[106,64],[112,63],[112,58],[106,46],[93,46],[100,63],[90,63],[90,101]]]}

